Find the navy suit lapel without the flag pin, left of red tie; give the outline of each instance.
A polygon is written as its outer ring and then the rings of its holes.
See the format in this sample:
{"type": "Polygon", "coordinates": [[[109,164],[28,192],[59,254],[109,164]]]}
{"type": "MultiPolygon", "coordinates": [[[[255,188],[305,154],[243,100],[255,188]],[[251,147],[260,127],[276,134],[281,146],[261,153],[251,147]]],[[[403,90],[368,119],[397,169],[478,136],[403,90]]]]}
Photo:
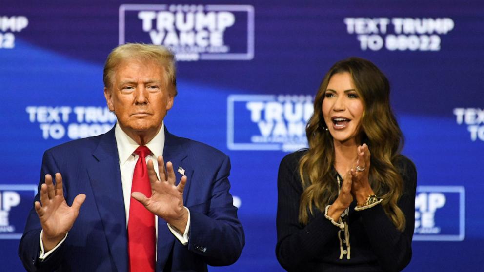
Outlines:
{"type": "Polygon", "coordinates": [[[126,214],[114,128],[101,136],[87,172],[111,257],[118,271],[128,270],[126,214]]]}

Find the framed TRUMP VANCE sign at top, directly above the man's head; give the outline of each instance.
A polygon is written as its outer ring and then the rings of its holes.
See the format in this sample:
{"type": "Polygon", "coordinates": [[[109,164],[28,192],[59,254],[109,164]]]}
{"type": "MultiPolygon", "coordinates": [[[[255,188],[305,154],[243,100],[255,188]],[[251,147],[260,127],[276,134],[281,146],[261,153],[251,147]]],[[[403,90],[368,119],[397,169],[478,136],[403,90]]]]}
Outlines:
{"type": "Polygon", "coordinates": [[[119,43],[171,48],[183,60],[254,58],[254,7],[250,5],[120,6],[119,43]]]}

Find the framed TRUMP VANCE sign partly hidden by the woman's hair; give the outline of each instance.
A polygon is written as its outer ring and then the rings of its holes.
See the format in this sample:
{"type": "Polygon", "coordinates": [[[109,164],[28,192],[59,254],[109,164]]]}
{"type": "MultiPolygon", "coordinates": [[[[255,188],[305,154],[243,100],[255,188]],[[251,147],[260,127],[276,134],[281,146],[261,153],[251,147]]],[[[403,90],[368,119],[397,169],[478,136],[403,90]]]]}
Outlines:
{"type": "Polygon", "coordinates": [[[230,95],[227,98],[227,147],[282,151],[307,147],[305,127],[312,114],[311,96],[230,95]]]}

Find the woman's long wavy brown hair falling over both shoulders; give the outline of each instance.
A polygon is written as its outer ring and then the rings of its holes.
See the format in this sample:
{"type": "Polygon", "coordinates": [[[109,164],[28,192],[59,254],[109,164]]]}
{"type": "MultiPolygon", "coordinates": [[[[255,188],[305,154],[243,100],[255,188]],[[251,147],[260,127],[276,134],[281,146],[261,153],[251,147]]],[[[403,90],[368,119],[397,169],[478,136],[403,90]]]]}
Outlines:
{"type": "Polygon", "coordinates": [[[323,118],[324,92],[331,76],[348,72],[365,107],[361,119],[361,144],[370,149],[370,185],[382,198],[385,213],[396,228],[403,231],[405,216],[397,206],[403,194],[403,179],[395,167],[403,147],[403,135],[390,107],[390,84],[383,73],[363,58],[348,58],[329,69],[314,100],[314,113],[306,126],[309,150],[299,161],[299,173],[304,189],[299,207],[299,221],[307,224],[314,208],[324,211],[338,196],[338,185],[331,175],[335,162],[333,137],[323,118]]]}

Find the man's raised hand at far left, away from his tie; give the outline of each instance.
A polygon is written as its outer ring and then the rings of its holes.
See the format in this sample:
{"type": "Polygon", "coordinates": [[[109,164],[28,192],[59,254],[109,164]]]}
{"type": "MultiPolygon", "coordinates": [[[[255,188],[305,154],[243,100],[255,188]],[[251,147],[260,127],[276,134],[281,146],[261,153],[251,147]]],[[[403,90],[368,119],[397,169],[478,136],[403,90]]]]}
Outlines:
{"type": "Polygon", "coordinates": [[[45,252],[59,244],[70,231],[85,199],[85,194],[78,194],[69,207],[64,199],[61,173],[56,173],[55,185],[52,176],[45,175],[45,183],[40,186],[40,202],[36,201],[34,204],[43,230],[42,243],[45,252]]]}

